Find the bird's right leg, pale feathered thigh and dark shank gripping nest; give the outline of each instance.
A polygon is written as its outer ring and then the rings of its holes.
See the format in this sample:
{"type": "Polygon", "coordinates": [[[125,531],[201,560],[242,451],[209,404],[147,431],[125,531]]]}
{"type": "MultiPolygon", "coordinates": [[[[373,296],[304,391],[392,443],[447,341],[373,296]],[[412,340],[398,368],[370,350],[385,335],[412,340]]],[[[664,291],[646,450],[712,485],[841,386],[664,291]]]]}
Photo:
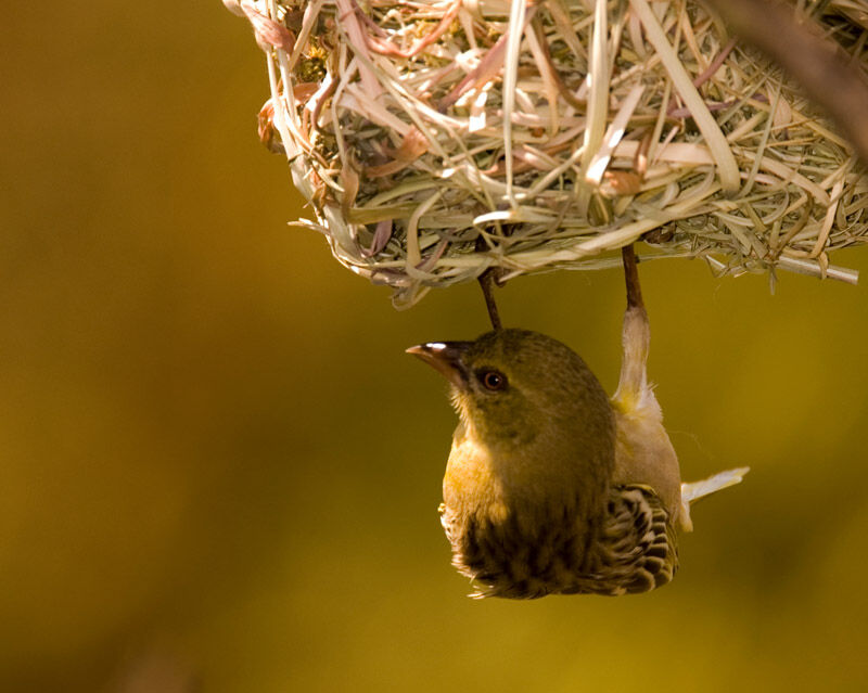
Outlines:
{"type": "Polygon", "coordinates": [[[621,257],[627,283],[627,310],[624,312],[624,328],[621,337],[624,360],[621,363],[621,378],[613,399],[625,403],[635,403],[648,389],[646,363],[651,329],[642,303],[642,290],[639,285],[639,272],[636,268],[636,253],[633,244],[621,248],[621,257]]]}

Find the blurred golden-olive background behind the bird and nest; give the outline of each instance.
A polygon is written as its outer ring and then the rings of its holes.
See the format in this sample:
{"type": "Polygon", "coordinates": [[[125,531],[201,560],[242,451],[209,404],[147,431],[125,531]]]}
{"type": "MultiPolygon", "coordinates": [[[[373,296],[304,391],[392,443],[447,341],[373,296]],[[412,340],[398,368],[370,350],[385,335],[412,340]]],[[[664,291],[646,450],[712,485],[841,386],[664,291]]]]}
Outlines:
{"type": "MultiPolygon", "coordinates": [[[[643,266],[694,513],[648,595],[474,602],[436,515],[455,416],[396,312],[288,229],[264,59],[217,0],[8,3],[0,168],[3,692],[865,690],[868,248],[858,286],[643,266]]],[[[611,392],[617,272],[520,279],[513,325],[611,392]]]]}

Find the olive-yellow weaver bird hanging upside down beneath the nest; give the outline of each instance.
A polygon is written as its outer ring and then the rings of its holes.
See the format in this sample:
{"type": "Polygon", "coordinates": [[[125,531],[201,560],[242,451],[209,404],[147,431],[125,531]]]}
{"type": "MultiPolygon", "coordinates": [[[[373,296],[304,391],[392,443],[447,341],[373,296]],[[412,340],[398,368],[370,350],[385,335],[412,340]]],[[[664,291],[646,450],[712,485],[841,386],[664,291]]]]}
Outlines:
{"type": "MultiPolygon", "coordinates": [[[[536,332],[496,329],[408,349],[446,376],[460,416],[441,521],[473,596],[665,585],[678,567],[676,532],[692,528],[690,502],[748,472],[681,484],[646,374],[650,332],[633,247],[623,255],[624,360],[611,400],[578,355],[536,332]]],[[[486,299],[490,307],[488,291],[486,299]]]]}

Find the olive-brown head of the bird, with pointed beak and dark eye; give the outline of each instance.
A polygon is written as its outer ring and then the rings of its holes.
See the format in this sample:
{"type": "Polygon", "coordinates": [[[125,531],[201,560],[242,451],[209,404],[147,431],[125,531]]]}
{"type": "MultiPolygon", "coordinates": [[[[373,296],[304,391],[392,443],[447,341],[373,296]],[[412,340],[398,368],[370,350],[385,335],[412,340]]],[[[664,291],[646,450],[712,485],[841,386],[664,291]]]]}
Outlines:
{"type": "Polygon", "coordinates": [[[523,445],[546,432],[611,439],[609,398],[582,358],[557,339],[498,330],[407,351],[448,378],[462,420],[489,445],[523,445]]]}

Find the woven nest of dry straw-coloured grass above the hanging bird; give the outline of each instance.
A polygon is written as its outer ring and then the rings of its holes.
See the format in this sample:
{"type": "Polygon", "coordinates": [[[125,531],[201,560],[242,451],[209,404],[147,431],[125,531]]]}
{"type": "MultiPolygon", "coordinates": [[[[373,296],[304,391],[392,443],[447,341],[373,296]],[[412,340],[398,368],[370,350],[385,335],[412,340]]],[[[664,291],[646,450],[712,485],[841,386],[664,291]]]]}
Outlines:
{"type": "MultiPolygon", "coordinates": [[[[819,4],[861,61],[867,3],[819,4]]],[[[299,223],[399,307],[488,268],[611,267],[637,240],[720,274],[856,280],[827,257],[868,229],[851,146],[697,2],[240,9],[267,44],[263,136],[316,214],[299,223]]]]}

